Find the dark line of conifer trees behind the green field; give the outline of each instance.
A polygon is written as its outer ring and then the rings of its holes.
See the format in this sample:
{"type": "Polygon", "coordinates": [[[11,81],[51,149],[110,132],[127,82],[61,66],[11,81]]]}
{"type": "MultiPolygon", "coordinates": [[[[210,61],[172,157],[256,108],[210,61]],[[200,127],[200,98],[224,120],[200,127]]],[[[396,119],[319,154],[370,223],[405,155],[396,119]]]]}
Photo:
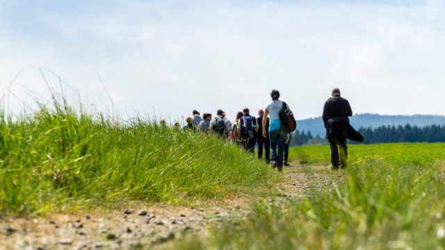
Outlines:
{"type": "MultiPolygon", "coordinates": [[[[376,144],[387,142],[445,142],[445,125],[430,126],[379,126],[378,128],[359,128],[358,130],[364,136],[363,144],[376,144]]],[[[328,144],[326,137],[316,135],[314,137],[311,131],[294,131],[292,133],[290,146],[328,144]]],[[[351,144],[359,142],[350,141],[351,144]]]]}

